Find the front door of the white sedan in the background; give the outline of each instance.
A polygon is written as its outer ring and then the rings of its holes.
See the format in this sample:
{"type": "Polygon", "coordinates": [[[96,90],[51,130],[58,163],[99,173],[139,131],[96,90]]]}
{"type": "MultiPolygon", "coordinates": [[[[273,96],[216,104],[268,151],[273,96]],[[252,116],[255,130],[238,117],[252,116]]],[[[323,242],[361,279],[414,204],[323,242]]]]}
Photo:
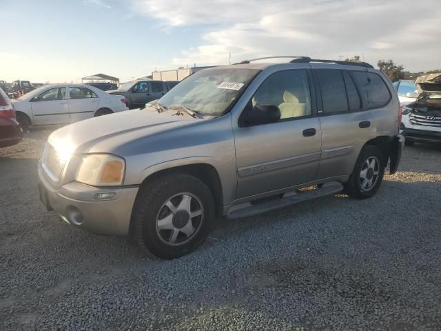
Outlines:
{"type": "Polygon", "coordinates": [[[50,88],[30,99],[32,115],[37,124],[70,123],[66,87],[50,88]]]}

